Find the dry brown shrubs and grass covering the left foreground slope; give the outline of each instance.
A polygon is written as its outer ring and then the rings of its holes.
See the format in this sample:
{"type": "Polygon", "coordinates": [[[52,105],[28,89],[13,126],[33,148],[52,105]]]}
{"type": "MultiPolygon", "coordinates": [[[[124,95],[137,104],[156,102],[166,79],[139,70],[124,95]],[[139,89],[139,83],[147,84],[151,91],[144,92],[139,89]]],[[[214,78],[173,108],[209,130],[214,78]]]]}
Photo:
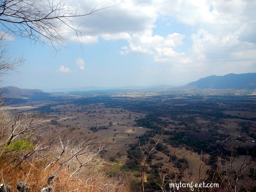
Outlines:
{"type": "MultiPolygon", "coordinates": [[[[40,135],[40,141],[34,143],[34,146],[31,145],[30,150],[26,148],[26,150],[18,149],[10,152],[3,148],[11,132],[10,125],[13,125],[15,120],[10,113],[2,111],[0,117],[0,125],[3,129],[1,131],[8,133],[1,139],[0,146],[2,154],[0,182],[5,185],[11,185],[14,189],[21,180],[27,182],[30,192],[39,192],[46,187],[50,174],[56,173],[59,180],[53,182],[54,192],[131,191],[128,178],[118,170],[110,172],[114,166],[99,158],[99,152],[105,148],[103,144],[93,145],[95,139],[93,136],[78,138],[74,129],[72,131],[56,127],[50,129],[49,126],[50,131],[42,132],[45,135],[40,135]]],[[[19,127],[22,128],[26,127],[19,127]]],[[[31,133],[34,134],[32,131],[31,133]]],[[[18,140],[23,141],[27,135],[27,133],[25,137],[20,135],[18,140]]],[[[32,141],[36,142],[35,139],[30,140],[32,141]]],[[[16,140],[11,143],[14,142],[16,140]]]]}

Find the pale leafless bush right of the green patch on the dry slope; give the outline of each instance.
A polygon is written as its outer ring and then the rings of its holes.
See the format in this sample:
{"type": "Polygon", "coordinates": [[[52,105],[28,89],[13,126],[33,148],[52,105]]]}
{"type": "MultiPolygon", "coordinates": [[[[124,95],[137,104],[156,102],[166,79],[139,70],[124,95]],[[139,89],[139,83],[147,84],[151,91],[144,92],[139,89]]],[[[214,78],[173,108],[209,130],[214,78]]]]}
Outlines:
{"type": "Polygon", "coordinates": [[[61,128],[54,128],[53,134],[56,135],[56,151],[52,154],[52,161],[46,165],[45,169],[59,163],[56,168],[57,171],[65,163],[72,162],[72,165],[74,165],[72,168],[73,172],[70,175],[72,177],[88,162],[105,163],[103,159],[99,158],[99,154],[101,151],[107,149],[106,144],[95,143],[97,136],[78,136],[76,128],[69,129],[68,131],[64,131],[61,128]]]}

